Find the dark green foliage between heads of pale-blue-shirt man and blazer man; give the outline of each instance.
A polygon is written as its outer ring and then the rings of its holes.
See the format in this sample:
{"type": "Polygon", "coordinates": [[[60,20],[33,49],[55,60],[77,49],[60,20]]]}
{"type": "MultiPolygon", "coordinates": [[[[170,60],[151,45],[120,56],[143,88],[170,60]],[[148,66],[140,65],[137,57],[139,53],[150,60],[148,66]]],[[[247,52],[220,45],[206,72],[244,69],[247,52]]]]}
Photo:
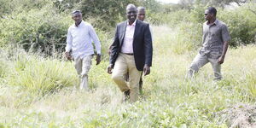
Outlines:
{"type": "Polygon", "coordinates": [[[86,20],[94,19],[93,26],[109,31],[116,23],[125,20],[125,8],[129,3],[138,5],[137,0],[56,0],[55,7],[60,11],[79,9],[86,20]]]}

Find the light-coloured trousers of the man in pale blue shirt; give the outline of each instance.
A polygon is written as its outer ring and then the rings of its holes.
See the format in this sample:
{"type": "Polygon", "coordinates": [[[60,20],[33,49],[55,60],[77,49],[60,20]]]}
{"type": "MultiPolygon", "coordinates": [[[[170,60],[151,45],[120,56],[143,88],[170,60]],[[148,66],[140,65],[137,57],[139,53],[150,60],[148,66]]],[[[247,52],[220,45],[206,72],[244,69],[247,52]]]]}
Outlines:
{"type": "Polygon", "coordinates": [[[89,90],[88,87],[88,73],[90,70],[91,59],[93,55],[86,55],[84,58],[76,58],[75,61],[75,68],[77,73],[79,74],[80,79],[80,90],[89,90]]]}

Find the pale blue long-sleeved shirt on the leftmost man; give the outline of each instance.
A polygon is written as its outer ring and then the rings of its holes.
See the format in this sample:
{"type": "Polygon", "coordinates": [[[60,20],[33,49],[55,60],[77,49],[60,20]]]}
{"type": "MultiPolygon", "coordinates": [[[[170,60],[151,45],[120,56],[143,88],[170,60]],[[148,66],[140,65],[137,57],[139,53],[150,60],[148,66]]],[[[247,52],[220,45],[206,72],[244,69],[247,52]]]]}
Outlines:
{"type": "Polygon", "coordinates": [[[101,43],[95,30],[89,23],[82,20],[79,26],[73,25],[68,28],[66,52],[72,49],[74,59],[84,58],[85,55],[93,55],[92,41],[96,46],[97,54],[101,54],[101,43]]]}

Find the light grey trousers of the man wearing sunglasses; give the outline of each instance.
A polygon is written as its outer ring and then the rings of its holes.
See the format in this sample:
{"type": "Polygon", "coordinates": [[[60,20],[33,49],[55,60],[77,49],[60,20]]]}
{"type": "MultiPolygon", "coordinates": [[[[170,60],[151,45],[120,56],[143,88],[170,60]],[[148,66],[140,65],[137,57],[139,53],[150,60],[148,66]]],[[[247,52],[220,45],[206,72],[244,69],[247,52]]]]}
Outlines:
{"type": "Polygon", "coordinates": [[[189,72],[187,74],[188,78],[194,77],[195,73],[199,71],[201,67],[206,65],[208,62],[212,64],[212,69],[214,73],[214,80],[222,79],[222,75],[220,73],[221,65],[218,63],[218,59],[212,59],[207,57],[207,55],[196,55],[195,59],[192,61],[191,66],[189,67],[189,72]]]}

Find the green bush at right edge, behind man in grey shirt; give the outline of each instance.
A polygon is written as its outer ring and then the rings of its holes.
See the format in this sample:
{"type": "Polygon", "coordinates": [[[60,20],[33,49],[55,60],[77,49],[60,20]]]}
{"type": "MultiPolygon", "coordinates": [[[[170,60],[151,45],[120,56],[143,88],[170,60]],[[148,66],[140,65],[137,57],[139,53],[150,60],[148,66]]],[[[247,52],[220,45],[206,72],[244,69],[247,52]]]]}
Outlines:
{"type": "Polygon", "coordinates": [[[249,10],[249,6],[256,10],[255,3],[247,3],[241,8],[220,10],[218,13],[219,20],[223,20],[229,26],[231,46],[255,42],[256,14],[249,10]]]}

